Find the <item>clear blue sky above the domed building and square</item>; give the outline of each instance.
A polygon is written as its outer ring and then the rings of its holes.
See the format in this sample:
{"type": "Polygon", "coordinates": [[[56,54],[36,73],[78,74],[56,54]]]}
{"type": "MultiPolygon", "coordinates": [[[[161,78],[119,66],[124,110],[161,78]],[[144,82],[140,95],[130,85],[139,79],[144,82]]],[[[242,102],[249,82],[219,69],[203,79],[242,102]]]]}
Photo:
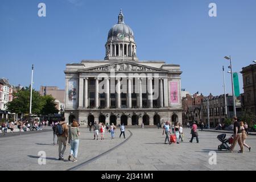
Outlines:
{"type": "MultiPolygon", "coordinates": [[[[34,85],[64,89],[65,64],[82,59],[104,59],[109,29],[117,23],[119,9],[134,31],[140,60],[180,64],[181,88],[191,94],[223,93],[222,65],[233,71],[256,60],[256,1],[82,1],[1,0],[0,77],[28,86],[31,65],[34,85]],[[46,17],[38,4],[46,3],[46,17]],[[209,3],[217,17],[209,17],[209,3]]],[[[226,89],[231,93],[230,74],[226,89]]],[[[242,76],[240,78],[240,92],[242,76]]]]}

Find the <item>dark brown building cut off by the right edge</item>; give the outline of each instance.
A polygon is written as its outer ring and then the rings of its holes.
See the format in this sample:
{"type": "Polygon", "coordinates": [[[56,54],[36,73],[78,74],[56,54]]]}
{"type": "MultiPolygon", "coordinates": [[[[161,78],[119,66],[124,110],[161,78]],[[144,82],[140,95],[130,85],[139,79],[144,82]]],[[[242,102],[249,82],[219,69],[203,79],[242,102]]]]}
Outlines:
{"type": "Polygon", "coordinates": [[[256,64],[242,68],[244,107],[256,115],[256,64]]]}

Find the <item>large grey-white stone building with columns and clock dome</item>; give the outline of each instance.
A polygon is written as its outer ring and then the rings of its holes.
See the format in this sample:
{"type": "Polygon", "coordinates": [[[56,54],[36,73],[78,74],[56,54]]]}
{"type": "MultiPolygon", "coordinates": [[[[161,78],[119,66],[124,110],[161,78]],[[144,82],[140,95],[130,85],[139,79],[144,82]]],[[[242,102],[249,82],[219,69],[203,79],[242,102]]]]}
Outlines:
{"type": "Polygon", "coordinates": [[[65,117],[80,122],[157,125],[181,122],[180,65],[139,60],[122,11],[108,33],[104,60],[67,64],[65,117]]]}

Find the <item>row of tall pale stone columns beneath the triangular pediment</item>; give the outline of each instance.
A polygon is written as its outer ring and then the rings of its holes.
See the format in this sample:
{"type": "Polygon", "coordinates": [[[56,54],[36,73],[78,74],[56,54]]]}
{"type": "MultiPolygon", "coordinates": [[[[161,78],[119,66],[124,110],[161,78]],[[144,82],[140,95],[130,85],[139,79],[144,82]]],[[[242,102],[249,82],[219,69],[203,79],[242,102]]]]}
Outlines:
{"type": "MultiPolygon", "coordinates": [[[[142,86],[142,80],[145,79],[144,81],[147,82],[146,86],[146,94],[147,94],[147,100],[148,100],[148,108],[153,108],[153,84],[152,82],[154,82],[154,79],[152,77],[127,77],[127,78],[120,78],[117,77],[115,78],[116,80],[116,84],[115,84],[115,101],[116,101],[116,108],[120,109],[121,108],[121,79],[123,81],[123,79],[126,79],[125,82],[127,84],[127,89],[126,89],[126,108],[131,108],[132,107],[132,97],[131,94],[134,93],[134,87],[136,85],[134,85],[133,79],[138,79],[138,92],[135,92],[138,97],[138,108],[142,108],[142,94],[145,93],[143,92],[143,88],[142,86]],[[132,85],[133,83],[133,85],[132,85]],[[133,90],[132,90],[133,89],[133,90]]],[[[158,98],[156,98],[155,100],[159,100],[159,107],[168,107],[168,98],[166,98],[166,102],[164,102],[163,100],[163,96],[168,97],[168,93],[164,93],[167,92],[163,89],[163,87],[167,87],[167,85],[163,85],[164,81],[166,80],[167,82],[167,78],[158,78],[158,84],[159,84],[159,89],[155,89],[154,92],[159,92],[158,93],[158,98]]],[[[104,82],[104,94],[105,94],[105,105],[103,107],[105,108],[110,108],[110,92],[113,93],[113,90],[110,90],[110,77],[80,77],[79,78],[79,108],[88,108],[88,107],[95,107],[98,108],[100,105],[100,100],[99,100],[99,83],[100,82],[104,82]],[[95,88],[94,88],[94,92],[95,92],[95,96],[94,96],[94,105],[91,106],[88,99],[89,99],[89,94],[88,94],[88,80],[90,79],[94,79],[95,80],[95,88]]],[[[168,89],[167,89],[168,90],[168,89]]]]}

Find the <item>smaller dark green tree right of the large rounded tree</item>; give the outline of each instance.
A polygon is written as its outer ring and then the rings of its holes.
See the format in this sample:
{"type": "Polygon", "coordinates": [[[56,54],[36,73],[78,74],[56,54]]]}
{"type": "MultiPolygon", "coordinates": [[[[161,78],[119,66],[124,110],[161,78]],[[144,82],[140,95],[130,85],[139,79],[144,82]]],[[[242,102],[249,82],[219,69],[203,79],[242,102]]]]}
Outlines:
{"type": "Polygon", "coordinates": [[[56,109],[56,104],[54,103],[55,99],[52,96],[43,96],[43,100],[45,101],[45,105],[43,106],[42,115],[48,114],[57,114],[59,110],[56,109]]]}

